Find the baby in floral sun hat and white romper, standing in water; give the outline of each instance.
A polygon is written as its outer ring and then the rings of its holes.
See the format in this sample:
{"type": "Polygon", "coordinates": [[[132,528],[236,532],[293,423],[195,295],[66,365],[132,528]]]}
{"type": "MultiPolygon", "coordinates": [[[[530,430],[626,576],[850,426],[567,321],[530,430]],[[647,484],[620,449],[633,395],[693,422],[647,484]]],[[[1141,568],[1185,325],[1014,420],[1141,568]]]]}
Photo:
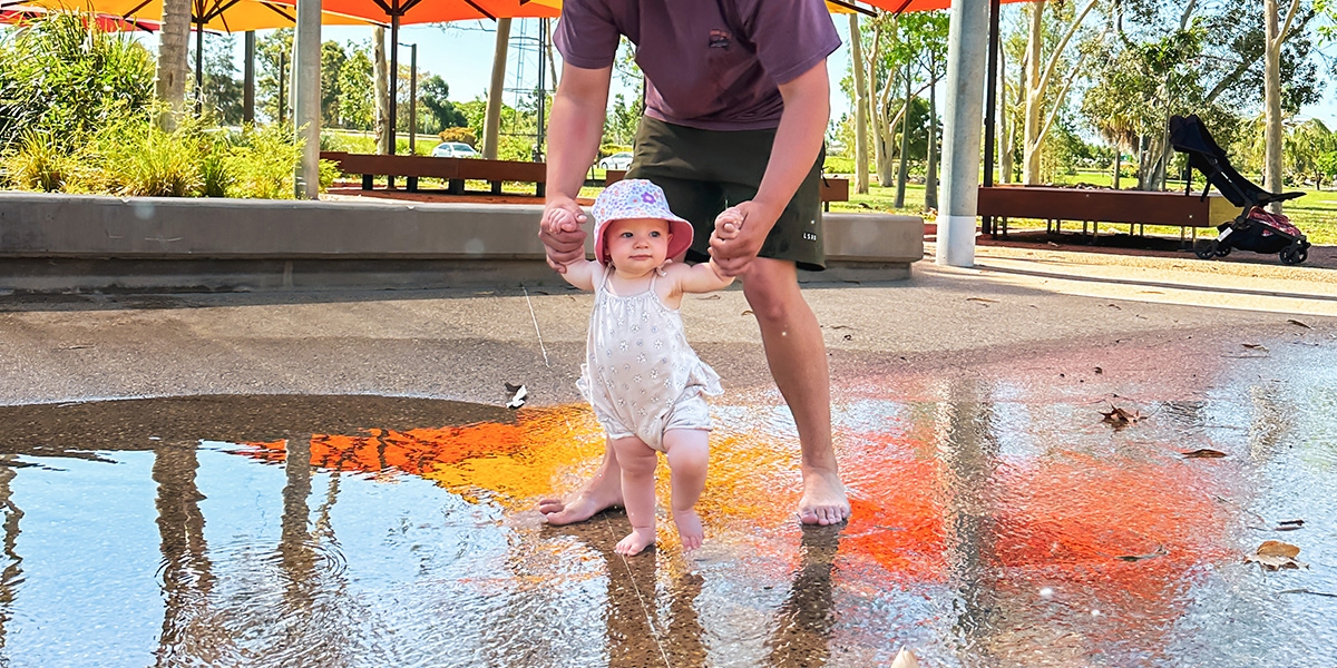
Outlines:
{"type": "MultiPolygon", "coordinates": [[[[663,190],[648,180],[608,186],[594,216],[598,262],[571,262],[562,275],[595,293],[578,386],[622,469],[631,533],[616,552],[636,554],[655,542],[658,453],[668,460],[674,525],[691,550],[705,540],[695,510],[709,460],[705,395],[723,390],[719,375],[687,345],[678,306],[683,294],[719,290],[734,279],[714,259],[671,262],[691,246],[691,223],[674,215],[663,190]]],[[[715,235],[734,238],[741,224],[741,214],[729,208],[715,219],[715,235]]]]}

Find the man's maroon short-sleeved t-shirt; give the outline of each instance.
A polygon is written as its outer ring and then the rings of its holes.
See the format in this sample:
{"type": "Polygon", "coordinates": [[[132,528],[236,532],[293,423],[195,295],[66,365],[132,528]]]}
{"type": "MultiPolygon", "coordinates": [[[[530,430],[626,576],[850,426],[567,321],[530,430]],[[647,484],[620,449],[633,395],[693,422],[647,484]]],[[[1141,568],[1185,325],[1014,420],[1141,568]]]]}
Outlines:
{"type": "Polygon", "coordinates": [[[636,45],[646,114],[702,130],[779,124],[779,84],[840,47],[822,0],[564,0],[556,47],[567,63],[612,64],[636,45]]]}

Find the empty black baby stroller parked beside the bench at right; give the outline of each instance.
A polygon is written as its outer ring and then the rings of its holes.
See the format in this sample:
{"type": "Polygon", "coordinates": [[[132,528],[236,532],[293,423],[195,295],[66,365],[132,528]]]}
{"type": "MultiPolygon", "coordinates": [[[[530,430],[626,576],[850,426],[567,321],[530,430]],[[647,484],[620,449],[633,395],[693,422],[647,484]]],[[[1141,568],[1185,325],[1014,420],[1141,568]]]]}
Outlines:
{"type": "Polygon", "coordinates": [[[1263,208],[1271,202],[1296,199],[1304,192],[1267,192],[1243,178],[1230,166],[1226,152],[1211,139],[1197,114],[1170,118],[1170,144],[1189,156],[1183,179],[1186,195],[1193,187],[1189,176],[1197,168],[1207,178],[1202,199],[1207,199],[1207,191],[1215,186],[1231,204],[1242,207],[1233,220],[1217,226],[1219,234],[1215,239],[1199,239],[1194,247],[1199,258],[1223,258],[1230,254],[1230,248],[1277,253],[1284,265],[1300,265],[1309,258],[1309,239],[1300,228],[1286,216],[1263,208]]]}

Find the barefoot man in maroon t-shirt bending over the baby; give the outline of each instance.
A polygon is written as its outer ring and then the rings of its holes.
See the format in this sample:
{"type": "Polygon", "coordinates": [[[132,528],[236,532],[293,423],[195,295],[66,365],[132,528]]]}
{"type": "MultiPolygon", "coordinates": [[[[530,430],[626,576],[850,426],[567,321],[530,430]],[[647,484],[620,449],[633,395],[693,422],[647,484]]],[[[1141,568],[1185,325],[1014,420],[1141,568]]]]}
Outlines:
{"type": "MultiPolygon", "coordinates": [[[[636,44],[646,115],[628,178],[664,190],[695,228],[687,259],[714,257],[743,282],[766,361],[802,446],[804,524],[837,524],[849,501],[832,449],[830,374],[797,270],[822,269],[820,180],[830,116],[826,56],[840,37],[821,0],[566,0],[558,24],[562,81],[548,130],[548,196],[539,236],[548,263],[584,255],[575,203],[603,135],[618,43],[636,44]],[[743,214],[731,239],[711,235],[726,206],[743,214]],[[709,255],[707,255],[709,254],[709,255]]],[[[552,524],[622,505],[611,450],[570,500],[544,500],[552,524]]]]}

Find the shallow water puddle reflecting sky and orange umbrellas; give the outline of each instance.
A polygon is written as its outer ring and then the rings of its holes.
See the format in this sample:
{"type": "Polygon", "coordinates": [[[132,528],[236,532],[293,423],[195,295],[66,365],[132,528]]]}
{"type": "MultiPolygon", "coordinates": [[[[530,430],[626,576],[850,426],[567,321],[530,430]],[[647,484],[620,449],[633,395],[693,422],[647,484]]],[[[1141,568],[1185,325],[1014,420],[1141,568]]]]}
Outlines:
{"type": "Polygon", "coordinates": [[[844,528],[794,522],[778,399],[726,394],[707,545],[631,560],[620,513],[529,510],[598,462],[579,406],[0,407],[0,665],[1333,665],[1334,350],[1266,345],[846,379],[844,528]],[[1310,568],[1246,564],[1265,540],[1310,568]]]}

